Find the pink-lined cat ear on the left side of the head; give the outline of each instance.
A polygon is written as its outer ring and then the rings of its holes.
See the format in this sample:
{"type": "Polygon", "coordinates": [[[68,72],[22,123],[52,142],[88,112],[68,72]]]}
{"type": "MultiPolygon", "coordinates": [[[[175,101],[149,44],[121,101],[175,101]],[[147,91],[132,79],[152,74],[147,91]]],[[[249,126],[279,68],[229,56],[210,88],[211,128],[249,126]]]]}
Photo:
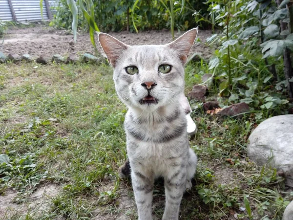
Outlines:
{"type": "Polygon", "coordinates": [[[117,59],[129,46],[105,33],[99,33],[98,39],[110,65],[115,67],[117,59]]]}

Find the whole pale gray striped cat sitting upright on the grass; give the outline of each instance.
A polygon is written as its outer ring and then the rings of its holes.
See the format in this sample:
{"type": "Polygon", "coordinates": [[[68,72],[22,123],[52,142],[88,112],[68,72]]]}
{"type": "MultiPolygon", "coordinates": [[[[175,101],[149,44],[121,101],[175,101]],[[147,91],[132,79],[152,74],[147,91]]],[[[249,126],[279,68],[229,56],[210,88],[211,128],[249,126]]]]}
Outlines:
{"type": "Polygon", "coordinates": [[[194,28],[170,44],[129,46],[99,34],[114,67],[117,94],[128,107],[124,125],[139,220],[152,220],[155,178],[165,179],[163,220],[178,220],[183,193],[192,186],[197,157],[189,148],[179,99],[184,91],[184,64],[196,36],[194,28]]]}

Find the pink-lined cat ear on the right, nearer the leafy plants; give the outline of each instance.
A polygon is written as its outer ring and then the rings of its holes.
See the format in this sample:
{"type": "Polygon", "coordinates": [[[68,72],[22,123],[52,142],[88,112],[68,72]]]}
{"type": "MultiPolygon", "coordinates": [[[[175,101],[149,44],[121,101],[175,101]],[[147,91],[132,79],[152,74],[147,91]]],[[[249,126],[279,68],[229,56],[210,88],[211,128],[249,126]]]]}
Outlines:
{"type": "Polygon", "coordinates": [[[187,62],[189,51],[194,44],[196,36],[197,28],[193,28],[172,43],[167,44],[170,48],[176,50],[183,64],[186,64],[187,62]]]}

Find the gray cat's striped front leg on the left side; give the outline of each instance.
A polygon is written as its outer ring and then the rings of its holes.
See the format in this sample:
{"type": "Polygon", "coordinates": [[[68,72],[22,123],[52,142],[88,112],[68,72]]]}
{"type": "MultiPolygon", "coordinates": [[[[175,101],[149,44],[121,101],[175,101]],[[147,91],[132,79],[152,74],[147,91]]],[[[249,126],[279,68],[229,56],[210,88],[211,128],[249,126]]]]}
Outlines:
{"type": "Polygon", "coordinates": [[[152,220],[151,203],[153,193],[153,176],[146,175],[133,166],[131,170],[132,187],[138,209],[139,220],[152,220]]]}

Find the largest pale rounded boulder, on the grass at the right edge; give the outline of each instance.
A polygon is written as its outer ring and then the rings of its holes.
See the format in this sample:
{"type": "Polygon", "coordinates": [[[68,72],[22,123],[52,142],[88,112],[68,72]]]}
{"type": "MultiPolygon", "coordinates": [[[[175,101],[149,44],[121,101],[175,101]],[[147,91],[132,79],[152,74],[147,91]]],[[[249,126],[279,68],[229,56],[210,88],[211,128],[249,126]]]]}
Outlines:
{"type": "Polygon", "coordinates": [[[248,156],[259,166],[271,165],[284,173],[293,187],[293,115],[269,118],[251,133],[248,156]]]}

